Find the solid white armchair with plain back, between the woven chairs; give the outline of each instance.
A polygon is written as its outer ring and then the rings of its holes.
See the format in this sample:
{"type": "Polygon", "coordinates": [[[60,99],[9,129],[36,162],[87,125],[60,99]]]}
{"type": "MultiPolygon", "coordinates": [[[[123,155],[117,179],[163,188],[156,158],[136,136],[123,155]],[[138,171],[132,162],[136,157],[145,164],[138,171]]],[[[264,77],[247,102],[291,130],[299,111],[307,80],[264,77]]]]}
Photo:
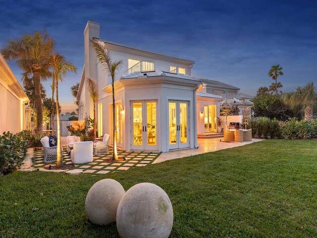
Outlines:
{"type": "Polygon", "coordinates": [[[74,142],[74,147],[70,152],[70,160],[74,164],[93,162],[93,142],[74,142]]]}

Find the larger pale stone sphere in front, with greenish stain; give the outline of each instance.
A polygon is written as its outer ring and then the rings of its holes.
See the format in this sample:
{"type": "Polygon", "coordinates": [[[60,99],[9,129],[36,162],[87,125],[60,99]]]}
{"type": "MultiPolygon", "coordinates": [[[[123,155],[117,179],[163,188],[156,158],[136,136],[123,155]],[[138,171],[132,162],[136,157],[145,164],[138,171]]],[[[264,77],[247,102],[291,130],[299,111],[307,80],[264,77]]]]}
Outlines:
{"type": "Polygon", "coordinates": [[[120,238],[168,238],[173,208],[166,192],[153,183],[139,183],[123,195],[117,210],[120,238]]]}

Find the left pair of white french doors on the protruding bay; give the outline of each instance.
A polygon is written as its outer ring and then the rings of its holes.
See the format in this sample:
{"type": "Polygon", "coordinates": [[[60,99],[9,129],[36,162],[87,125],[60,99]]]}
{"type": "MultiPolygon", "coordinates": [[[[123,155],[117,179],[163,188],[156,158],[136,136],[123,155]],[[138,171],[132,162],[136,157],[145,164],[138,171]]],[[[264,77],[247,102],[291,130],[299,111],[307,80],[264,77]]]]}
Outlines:
{"type": "Polygon", "coordinates": [[[131,102],[131,149],[159,150],[156,100],[131,102]]]}

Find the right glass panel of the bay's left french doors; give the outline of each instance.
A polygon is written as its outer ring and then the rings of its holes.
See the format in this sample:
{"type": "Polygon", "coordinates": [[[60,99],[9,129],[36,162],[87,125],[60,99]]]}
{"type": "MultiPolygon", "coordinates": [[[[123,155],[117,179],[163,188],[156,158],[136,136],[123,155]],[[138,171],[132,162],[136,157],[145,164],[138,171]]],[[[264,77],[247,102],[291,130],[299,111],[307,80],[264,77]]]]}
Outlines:
{"type": "Polygon", "coordinates": [[[157,103],[147,103],[147,145],[157,145],[157,103]]]}

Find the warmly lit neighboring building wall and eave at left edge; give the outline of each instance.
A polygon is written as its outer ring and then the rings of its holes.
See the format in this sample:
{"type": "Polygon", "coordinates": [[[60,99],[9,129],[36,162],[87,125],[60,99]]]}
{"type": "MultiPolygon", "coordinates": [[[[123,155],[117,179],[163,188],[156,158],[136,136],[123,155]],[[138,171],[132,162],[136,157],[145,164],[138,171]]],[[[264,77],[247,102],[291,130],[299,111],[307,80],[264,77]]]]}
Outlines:
{"type": "Polygon", "coordinates": [[[29,98],[0,54],[0,134],[26,129],[29,98]]]}

